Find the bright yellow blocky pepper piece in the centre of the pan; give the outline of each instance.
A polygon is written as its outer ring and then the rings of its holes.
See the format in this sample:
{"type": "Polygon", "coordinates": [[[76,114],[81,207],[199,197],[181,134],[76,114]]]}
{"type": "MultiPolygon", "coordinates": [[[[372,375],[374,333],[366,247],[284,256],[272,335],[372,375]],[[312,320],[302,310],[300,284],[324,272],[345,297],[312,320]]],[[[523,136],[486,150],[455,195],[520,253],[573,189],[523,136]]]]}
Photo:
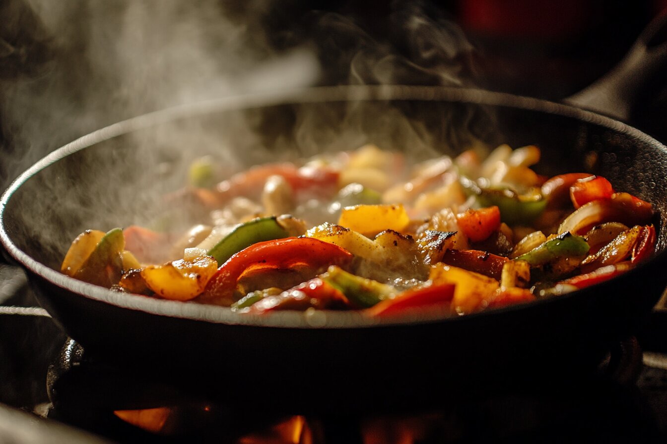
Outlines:
{"type": "Polygon", "coordinates": [[[410,225],[410,216],[402,204],[356,205],[343,208],[338,225],[374,236],[384,230],[402,232],[410,225]]]}

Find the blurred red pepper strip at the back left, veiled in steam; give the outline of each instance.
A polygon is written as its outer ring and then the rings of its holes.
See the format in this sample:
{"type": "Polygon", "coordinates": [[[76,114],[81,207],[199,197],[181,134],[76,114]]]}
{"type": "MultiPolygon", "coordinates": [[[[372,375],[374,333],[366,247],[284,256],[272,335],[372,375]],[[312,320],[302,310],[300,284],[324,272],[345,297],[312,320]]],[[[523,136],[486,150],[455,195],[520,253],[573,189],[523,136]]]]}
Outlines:
{"type": "Polygon", "coordinates": [[[322,194],[336,192],[340,173],[330,168],[301,167],[289,162],[255,166],[217,184],[218,198],[226,201],[236,196],[259,194],[270,176],[283,176],[293,192],[314,190],[322,194]]]}

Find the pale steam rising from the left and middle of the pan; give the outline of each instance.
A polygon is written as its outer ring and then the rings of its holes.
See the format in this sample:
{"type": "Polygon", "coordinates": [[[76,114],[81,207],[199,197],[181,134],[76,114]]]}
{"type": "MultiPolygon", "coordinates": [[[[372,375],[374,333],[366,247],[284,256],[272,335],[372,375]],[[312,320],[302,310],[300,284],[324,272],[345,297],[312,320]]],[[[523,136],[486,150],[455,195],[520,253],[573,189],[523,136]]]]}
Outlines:
{"type": "MultiPolygon", "coordinates": [[[[470,86],[474,81],[472,47],[464,35],[420,3],[392,3],[382,18],[387,33],[368,29],[363,17],[294,5],[298,17],[288,14],[267,25],[267,17],[282,6],[267,0],[236,8],[216,0],[5,2],[0,144],[8,155],[0,165],[2,184],[78,136],[173,105],[312,85],[470,86]]],[[[350,149],[381,142],[368,140],[367,126],[373,125],[391,148],[420,155],[433,152],[436,139],[465,140],[475,120],[467,110],[444,111],[436,122],[440,132],[434,132],[433,125],[400,107],[374,109],[371,118],[368,112],[354,103],[335,112],[313,107],[287,116],[281,109],[235,112],[123,137],[105,148],[124,153],[102,157],[115,162],[113,167],[100,166],[97,158],[41,183],[33,204],[42,202],[43,208],[27,211],[25,230],[57,252],[85,228],[138,222],[137,208],[155,202],[155,194],[145,191],[176,188],[178,172],[199,154],[213,154],[231,167],[267,156],[285,158],[288,152],[350,149]],[[279,134],[271,133],[275,126],[279,134]],[[139,151],[138,157],[128,154],[139,151]],[[77,188],[81,177],[111,172],[116,176],[103,179],[99,196],[87,195],[89,187],[77,188]],[[39,220],[43,212],[76,216],[39,220]],[[68,228],[54,230],[54,224],[68,228]]]]}

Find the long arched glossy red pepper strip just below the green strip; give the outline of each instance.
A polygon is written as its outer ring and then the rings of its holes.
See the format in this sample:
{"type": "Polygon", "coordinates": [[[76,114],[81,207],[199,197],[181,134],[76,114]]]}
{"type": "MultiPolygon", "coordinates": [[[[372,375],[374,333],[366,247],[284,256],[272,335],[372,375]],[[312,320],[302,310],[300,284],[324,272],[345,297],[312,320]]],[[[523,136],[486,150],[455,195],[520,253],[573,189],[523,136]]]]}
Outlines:
{"type": "Polygon", "coordinates": [[[307,266],[317,274],[331,265],[346,266],[352,258],[352,253],[347,250],[315,238],[257,242],[222,264],[199,298],[201,302],[229,306],[239,279],[246,273],[307,266]]]}

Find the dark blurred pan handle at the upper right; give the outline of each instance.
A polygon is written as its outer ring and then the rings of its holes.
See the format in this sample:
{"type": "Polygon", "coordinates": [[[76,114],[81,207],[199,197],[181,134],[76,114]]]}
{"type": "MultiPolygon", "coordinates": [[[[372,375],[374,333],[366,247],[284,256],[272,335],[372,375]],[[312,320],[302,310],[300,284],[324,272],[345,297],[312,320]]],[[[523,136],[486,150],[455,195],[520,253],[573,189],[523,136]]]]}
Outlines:
{"type": "Polygon", "coordinates": [[[634,106],[650,91],[664,86],[666,79],[667,11],[663,11],[612,71],[564,102],[628,121],[634,106]]]}

